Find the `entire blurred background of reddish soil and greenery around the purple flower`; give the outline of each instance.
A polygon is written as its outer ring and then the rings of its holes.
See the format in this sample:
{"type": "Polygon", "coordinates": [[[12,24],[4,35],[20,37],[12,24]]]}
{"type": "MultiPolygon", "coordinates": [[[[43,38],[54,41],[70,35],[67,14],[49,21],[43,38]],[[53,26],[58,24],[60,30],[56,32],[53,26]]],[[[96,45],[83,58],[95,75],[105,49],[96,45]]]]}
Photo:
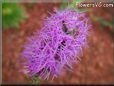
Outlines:
{"type": "MultiPolygon", "coordinates": [[[[21,51],[28,36],[43,26],[48,12],[62,3],[2,3],[2,83],[31,83],[21,72],[21,51]]],[[[65,70],[54,80],[37,79],[38,84],[114,84],[114,7],[87,11],[92,23],[88,48],[83,50],[73,72],[65,70]]]]}

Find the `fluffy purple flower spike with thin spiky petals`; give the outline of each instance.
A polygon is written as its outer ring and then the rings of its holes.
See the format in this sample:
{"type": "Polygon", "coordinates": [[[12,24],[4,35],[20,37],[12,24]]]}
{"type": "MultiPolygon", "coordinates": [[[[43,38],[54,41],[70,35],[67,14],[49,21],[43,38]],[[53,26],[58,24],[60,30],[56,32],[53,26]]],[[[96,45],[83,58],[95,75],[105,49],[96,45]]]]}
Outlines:
{"type": "Polygon", "coordinates": [[[64,68],[72,69],[87,45],[89,26],[85,14],[75,10],[51,14],[42,30],[29,37],[24,46],[22,56],[28,74],[46,79],[60,75],[64,68]]]}

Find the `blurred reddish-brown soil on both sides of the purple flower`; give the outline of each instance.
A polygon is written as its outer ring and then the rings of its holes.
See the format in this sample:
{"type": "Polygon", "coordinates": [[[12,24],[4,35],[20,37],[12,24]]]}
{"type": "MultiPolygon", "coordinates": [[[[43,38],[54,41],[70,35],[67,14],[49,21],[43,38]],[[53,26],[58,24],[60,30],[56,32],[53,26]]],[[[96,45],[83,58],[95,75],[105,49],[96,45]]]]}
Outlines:
{"type": "MultiPolygon", "coordinates": [[[[20,72],[21,51],[26,38],[42,27],[48,11],[58,4],[26,5],[29,17],[18,29],[3,30],[3,83],[29,83],[29,78],[20,72]]],[[[40,83],[53,84],[107,84],[114,83],[113,40],[105,30],[94,23],[88,39],[89,47],[84,49],[79,64],[74,64],[73,72],[65,70],[64,74],[52,80],[40,83]]]]}

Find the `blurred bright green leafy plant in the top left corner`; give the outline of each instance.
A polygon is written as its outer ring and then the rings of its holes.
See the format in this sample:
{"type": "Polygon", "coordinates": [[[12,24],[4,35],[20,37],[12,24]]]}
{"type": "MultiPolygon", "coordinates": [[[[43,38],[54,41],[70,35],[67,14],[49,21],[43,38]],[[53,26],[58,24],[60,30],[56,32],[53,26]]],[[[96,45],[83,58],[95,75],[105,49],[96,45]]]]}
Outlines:
{"type": "Polygon", "coordinates": [[[3,28],[16,28],[19,23],[27,17],[23,7],[16,3],[3,3],[2,4],[2,27],[3,28]]]}

